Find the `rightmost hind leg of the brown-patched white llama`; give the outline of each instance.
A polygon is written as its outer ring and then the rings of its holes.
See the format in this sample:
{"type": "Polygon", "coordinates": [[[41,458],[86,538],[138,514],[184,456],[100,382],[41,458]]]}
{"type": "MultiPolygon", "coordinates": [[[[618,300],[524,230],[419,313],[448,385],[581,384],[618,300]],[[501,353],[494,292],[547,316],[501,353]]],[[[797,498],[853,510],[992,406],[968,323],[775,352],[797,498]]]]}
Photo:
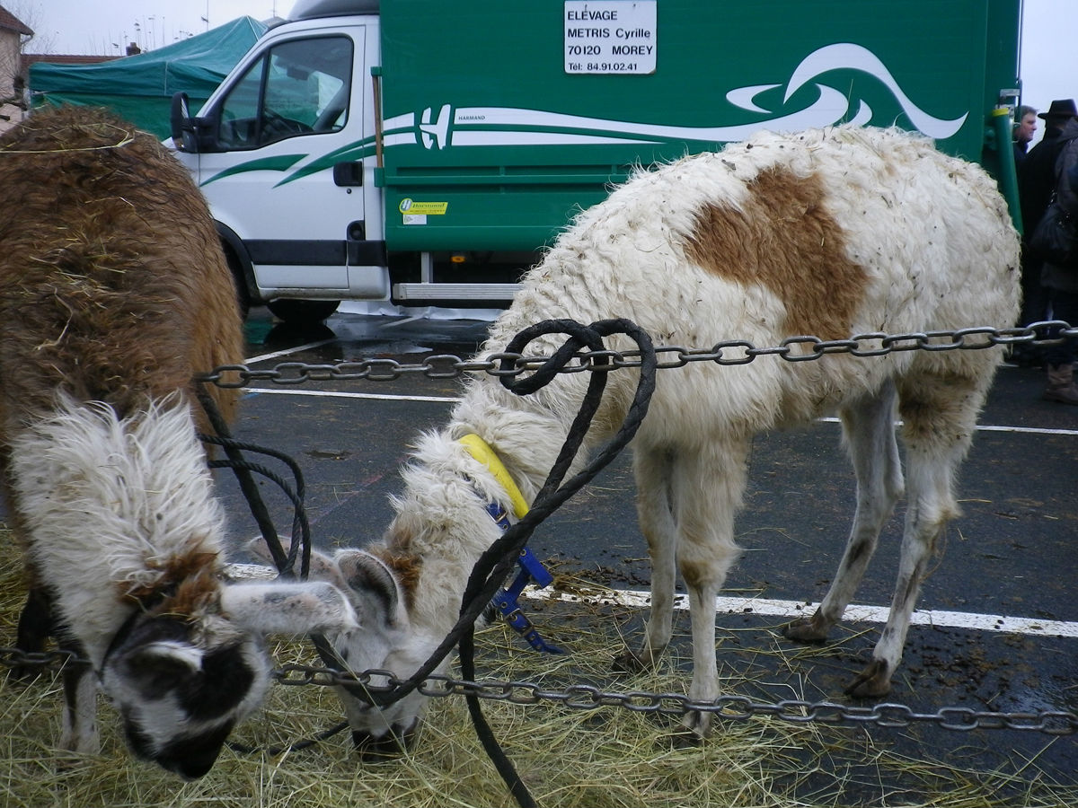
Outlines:
{"type": "Polygon", "coordinates": [[[898,580],[887,624],[872,660],[846,688],[851,695],[874,698],[890,692],[929,559],[948,521],[958,514],[954,474],[969,449],[984,398],[982,385],[976,379],[964,382],[955,375],[928,376],[900,389],[908,505],[898,580]]]}

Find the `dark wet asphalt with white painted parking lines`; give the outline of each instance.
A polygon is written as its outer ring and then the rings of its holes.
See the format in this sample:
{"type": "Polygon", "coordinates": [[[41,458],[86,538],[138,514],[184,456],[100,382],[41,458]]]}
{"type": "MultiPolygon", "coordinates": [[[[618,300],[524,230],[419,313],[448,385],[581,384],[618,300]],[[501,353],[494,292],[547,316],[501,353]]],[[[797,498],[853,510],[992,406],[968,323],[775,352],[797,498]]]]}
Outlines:
{"type": "MultiPolygon", "coordinates": [[[[338,314],[324,325],[298,330],[274,324],[255,309],[247,324],[248,364],[467,357],[485,328],[482,320],[338,314]]],[[[388,496],[400,490],[410,443],[419,431],[446,421],[458,384],[416,374],[396,381],[257,381],[244,398],[235,436],[299,463],[317,546],[362,545],[389,521],[388,496]]],[[[926,624],[911,629],[888,701],[929,715],[951,708],[1078,713],[1078,409],[1041,401],[1042,386],[1044,372],[1036,368],[1005,366],[997,376],[960,472],[964,515],[951,526],[925,582],[918,613],[926,624]]],[[[843,686],[879,635],[881,624],[871,611],[867,619],[844,621],[823,646],[805,649],[779,635],[784,610],[796,612],[824,596],[843,549],[854,482],[839,435],[837,422],[821,421],[754,442],[737,521],[744,554],[728,581],[724,595],[731,600],[717,615],[720,670],[759,672],[752,692],[741,695],[764,702],[793,698],[857,706],[843,696],[843,686]]],[[[223,477],[220,486],[237,543],[253,537],[257,528],[235,484],[223,477]]],[[[267,479],[260,488],[278,529],[288,532],[287,499],[267,479]]],[[[646,611],[618,601],[620,593],[646,591],[649,581],[633,490],[628,458],[620,457],[535,533],[531,549],[563,588],[597,586],[610,595],[605,605],[588,610],[529,601],[531,618],[549,640],[557,642],[559,626],[580,621],[608,630],[612,649],[619,638],[640,636],[646,611]]],[[[900,504],[855,599],[876,612],[890,601],[901,518],[900,504]]],[[[686,660],[678,664],[688,682],[688,614],[679,613],[676,625],[680,651],[673,654],[686,660]]],[[[595,684],[618,686],[613,675],[595,684]]],[[[965,723],[962,713],[949,714],[965,723]]],[[[1048,783],[1069,795],[1061,796],[1061,805],[1074,804],[1078,737],[1029,729],[958,732],[941,723],[867,732],[874,743],[916,760],[962,765],[975,776],[1012,771],[1031,788],[1048,783]]],[[[895,793],[908,788],[897,784],[895,793]]]]}

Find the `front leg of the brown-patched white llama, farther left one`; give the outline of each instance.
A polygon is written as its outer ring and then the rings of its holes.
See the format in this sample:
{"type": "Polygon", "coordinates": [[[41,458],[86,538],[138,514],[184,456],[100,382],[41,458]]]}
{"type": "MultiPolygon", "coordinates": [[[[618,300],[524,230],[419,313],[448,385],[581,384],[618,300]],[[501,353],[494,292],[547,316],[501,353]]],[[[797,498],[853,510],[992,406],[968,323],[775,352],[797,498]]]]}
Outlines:
{"type": "Polygon", "coordinates": [[[651,557],[651,614],[640,652],[626,650],[614,660],[620,670],[637,671],[653,666],[673,633],[677,526],[671,511],[671,468],[667,450],[641,448],[633,454],[637,518],[651,557]]]}

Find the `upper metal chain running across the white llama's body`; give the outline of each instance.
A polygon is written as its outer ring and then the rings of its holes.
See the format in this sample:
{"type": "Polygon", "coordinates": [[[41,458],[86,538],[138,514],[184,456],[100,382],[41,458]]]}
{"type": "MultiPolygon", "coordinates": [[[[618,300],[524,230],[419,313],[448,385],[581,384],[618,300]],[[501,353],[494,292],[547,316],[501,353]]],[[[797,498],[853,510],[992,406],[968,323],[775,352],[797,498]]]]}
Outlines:
{"type": "MultiPolygon", "coordinates": [[[[660,368],[683,367],[690,362],[713,362],[718,365],[745,365],[759,357],[775,356],[787,362],[805,362],[835,353],[853,357],[883,357],[911,350],[950,351],[981,350],[995,346],[1055,345],[1066,337],[1078,337],[1078,326],[1065,320],[1046,320],[1023,328],[995,329],[978,326],[951,331],[924,331],[908,334],[859,334],[849,339],[820,339],[816,336],[791,336],[779,345],[757,348],[744,339],[730,339],[710,348],[659,346],[660,368]],[[1052,338],[1046,332],[1055,334],[1052,338]]],[[[453,379],[472,373],[490,376],[519,376],[534,371],[550,358],[523,353],[488,353],[483,359],[461,359],[452,353],[436,353],[421,362],[404,364],[396,359],[364,359],[332,364],[280,362],[265,370],[247,365],[221,365],[199,379],[222,388],[241,388],[252,381],[276,385],[303,385],[308,381],[396,381],[403,376],[424,376],[429,379],[453,379]],[[506,368],[502,364],[506,363],[506,368]]],[[[639,367],[637,350],[580,351],[577,362],[559,373],[597,371],[602,373],[621,367],[639,367]]]]}

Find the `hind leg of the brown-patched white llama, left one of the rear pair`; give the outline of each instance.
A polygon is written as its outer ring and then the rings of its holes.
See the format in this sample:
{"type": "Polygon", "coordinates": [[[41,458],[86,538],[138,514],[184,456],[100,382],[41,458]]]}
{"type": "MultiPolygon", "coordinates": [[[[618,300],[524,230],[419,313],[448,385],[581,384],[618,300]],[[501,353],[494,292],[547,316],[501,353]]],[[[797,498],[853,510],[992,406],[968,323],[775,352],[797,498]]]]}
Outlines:
{"type": "Polygon", "coordinates": [[[902,466],[895,442],[895,387],[855,402],[842,412],[843,436],[857,479],[857,510],[834,581],[811,617],[783,629],[799,642],[823,642],[853,600],[875,553],[880,531],[902,494],[902,466]]]}

